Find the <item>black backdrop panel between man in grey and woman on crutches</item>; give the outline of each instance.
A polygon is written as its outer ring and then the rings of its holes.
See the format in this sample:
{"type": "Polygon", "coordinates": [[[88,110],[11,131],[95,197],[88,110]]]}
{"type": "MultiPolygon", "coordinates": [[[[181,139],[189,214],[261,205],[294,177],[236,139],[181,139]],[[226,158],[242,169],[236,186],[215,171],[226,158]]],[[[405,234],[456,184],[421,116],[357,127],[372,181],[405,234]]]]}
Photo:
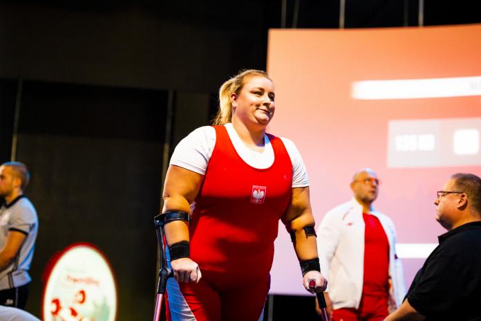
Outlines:
{"type": "Polygon", "coordinates": [[[17,160],[39,236],[26,309],[40,315],[48,259],[79,241],[98,246],[117,280],[117,320],[149,320],[167,92],[24,82],[17,160]]]}

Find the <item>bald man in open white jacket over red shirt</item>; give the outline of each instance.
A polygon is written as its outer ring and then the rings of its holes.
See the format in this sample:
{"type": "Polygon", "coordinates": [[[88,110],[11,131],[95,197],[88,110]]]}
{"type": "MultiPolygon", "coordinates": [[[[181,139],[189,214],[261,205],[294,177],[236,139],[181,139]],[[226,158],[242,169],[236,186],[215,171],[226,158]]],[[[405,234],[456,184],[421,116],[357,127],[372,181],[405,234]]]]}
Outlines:
{"type": "Polygon", "coordinates": [[[328,311],[332,321],[384,320],[406,293],[395,226],[372,207],[379,187],[372,169],[357,172],[350,187],[354,197],[330,210],[317,233],[328,311]]]}

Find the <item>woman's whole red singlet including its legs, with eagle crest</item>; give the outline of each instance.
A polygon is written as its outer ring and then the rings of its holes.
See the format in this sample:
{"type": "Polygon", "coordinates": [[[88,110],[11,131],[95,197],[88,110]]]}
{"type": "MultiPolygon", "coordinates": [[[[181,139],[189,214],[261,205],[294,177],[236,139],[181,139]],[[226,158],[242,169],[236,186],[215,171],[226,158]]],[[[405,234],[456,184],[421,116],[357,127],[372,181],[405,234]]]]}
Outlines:
{"type": "Polygon", "coordinates": [[[180,290],[197,320],[256,320],[269,291],[279,219],[292,197],[292,161],[282,140],[268,134],[274,163],[256,169],[237,154],[224,126],[214,128],[216,146],[189,227],[202,279],[180,290]]]}

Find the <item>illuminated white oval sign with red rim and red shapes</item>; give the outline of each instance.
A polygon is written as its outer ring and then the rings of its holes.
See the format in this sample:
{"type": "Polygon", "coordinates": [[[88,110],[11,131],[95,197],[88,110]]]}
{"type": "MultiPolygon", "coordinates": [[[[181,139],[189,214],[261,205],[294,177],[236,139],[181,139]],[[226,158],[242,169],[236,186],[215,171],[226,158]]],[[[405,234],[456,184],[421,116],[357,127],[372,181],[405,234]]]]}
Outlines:
{"type": "Polygon", "coordinates": [[[51,266],[41,320],[115,321],[117,286],[106,257],[91,244],[73,244],[51,266]]]}

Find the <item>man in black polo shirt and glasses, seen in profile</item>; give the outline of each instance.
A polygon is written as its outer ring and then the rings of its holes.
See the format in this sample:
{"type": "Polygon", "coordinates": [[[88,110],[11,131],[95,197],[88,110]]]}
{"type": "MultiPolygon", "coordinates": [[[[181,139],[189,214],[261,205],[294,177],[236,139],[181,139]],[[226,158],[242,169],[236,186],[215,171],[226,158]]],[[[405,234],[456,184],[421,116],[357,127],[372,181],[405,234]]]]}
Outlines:
{"type": "Polygon", "coordinates": [[[481,178],[454,174],[437,192],[439,237],[392,320],[481,320],[481,178]]]}

